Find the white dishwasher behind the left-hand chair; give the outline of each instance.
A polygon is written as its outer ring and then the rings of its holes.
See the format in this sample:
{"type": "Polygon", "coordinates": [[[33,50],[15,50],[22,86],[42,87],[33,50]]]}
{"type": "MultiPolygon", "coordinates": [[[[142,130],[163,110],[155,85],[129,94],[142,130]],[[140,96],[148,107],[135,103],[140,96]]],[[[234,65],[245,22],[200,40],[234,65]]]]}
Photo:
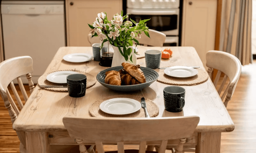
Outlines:
{"type": "MultiPolygon", "coordinates": [[[[66,46],[63,1],[1,1],[4,58],[28,55],[37,83],[60,47],[66,46]]],[[[23,76],[22,80],[26,77],[23,76]]],[[[24,81],[24,83],[27,81],[24,81]]]]}

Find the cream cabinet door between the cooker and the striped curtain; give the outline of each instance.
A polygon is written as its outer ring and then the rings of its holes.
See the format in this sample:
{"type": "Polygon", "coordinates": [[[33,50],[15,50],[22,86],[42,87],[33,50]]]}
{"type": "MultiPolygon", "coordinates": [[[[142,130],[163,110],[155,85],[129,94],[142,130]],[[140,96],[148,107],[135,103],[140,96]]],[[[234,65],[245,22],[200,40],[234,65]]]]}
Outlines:
{"type": "Polygon", "coordinates": [[[214,50],[217,0],[185,0],[182,46],[196,49],[206,68],[206,53],[214,50]]]}

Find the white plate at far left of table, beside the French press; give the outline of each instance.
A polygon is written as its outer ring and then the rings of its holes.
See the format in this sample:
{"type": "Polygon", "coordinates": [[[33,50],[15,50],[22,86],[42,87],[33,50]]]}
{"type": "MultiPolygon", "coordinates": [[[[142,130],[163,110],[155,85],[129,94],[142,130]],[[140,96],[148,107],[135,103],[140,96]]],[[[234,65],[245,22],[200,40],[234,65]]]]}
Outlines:
{"type": "Polygon", "coordinates": [[[80,62],[87,62],[92,59],[92,55],[86,53],[74,53],[68,54],[63,57],[63,60],[68,62],[80,63],[80,62]]]}

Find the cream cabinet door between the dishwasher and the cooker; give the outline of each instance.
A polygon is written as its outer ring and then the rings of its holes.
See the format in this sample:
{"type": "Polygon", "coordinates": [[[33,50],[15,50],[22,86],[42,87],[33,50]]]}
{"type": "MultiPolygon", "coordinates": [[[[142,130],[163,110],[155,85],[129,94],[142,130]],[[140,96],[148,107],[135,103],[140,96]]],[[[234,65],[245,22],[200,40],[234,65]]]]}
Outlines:
{"type": "Polygon", "coordinates": [[[121,13],[122,0],[67,0],[67,45],[91,46],[87,40],[98,13],[106,12],[108,20],[121,13]]]}

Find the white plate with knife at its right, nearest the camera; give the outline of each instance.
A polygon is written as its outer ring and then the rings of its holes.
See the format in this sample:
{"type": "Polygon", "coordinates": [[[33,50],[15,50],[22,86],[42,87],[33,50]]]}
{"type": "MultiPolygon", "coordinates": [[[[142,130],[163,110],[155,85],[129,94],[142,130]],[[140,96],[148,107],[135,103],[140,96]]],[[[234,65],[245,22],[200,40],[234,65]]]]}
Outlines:
{"type": "Polygon", "coordinates": [[[141,103],[130,98],[113,98],[103,101],[100,110],[108,114],[124,115],[138,111],[141,103]]]}

